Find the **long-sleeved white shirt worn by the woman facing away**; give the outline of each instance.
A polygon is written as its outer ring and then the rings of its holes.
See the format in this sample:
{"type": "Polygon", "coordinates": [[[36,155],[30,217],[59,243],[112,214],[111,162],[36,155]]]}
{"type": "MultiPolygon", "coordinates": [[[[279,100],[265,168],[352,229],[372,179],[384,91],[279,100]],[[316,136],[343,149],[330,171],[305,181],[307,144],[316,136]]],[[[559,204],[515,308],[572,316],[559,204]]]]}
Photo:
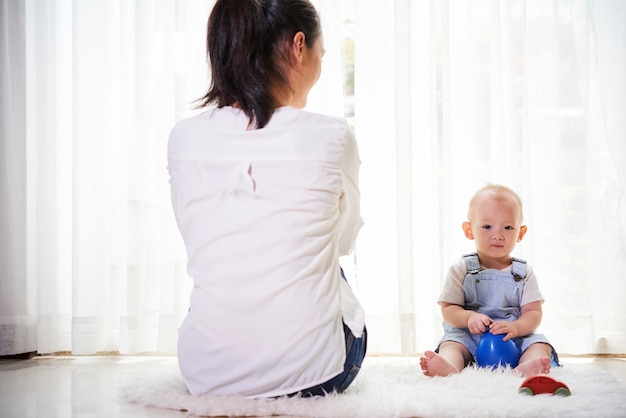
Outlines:
{"type": "Polygon", "coordinates": [[[343,371],[340,278],[362,226],[357,144],[345,120],[291,107],[247,130],[232,107],[176,124],[172,205],[194,281],[178,356],[193,394],[279,396],[343,371]]]}

